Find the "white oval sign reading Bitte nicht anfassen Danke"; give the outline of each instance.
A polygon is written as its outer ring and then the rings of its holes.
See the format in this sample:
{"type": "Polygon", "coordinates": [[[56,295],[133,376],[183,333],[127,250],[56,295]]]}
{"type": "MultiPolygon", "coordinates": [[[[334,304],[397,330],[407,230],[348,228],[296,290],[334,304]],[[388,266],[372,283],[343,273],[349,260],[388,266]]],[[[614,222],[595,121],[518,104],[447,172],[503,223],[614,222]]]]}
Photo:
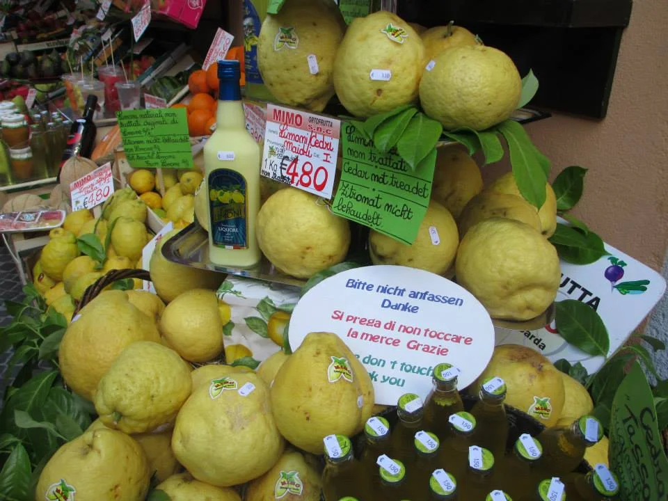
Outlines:
{"type": "Polygon", "coordinates": [[[404,393],[423,399],[434,366],[459,367],[458,388],[485,369],[494,350],[492,321],[466,289],[429,271],[371,266],[342,271],[310,289],[289,325],[296,350],[310,332],[338,335],[374,382],[376,404],[404,393]]]}

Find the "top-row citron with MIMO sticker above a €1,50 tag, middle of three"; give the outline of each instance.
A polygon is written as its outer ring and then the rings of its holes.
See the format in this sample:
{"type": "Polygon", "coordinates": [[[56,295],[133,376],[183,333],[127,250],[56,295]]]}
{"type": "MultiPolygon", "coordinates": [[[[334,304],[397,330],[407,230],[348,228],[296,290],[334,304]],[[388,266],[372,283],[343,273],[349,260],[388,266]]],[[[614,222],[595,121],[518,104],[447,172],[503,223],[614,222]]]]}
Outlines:
{"type": "Polygon", "coordinates": [[[353,19],[334,61],[334,88],[341,104],[369,117],[417,100],[424,68],[420,35],[385,10],[353,19]]]}

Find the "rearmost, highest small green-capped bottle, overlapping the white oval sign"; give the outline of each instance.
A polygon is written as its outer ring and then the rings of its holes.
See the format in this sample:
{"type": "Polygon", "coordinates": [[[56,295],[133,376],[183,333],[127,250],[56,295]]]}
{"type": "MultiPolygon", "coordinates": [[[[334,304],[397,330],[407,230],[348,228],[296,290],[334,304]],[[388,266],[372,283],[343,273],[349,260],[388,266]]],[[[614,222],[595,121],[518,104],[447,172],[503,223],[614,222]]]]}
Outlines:
{"type": "Polygon", "coordinates": [[[438,436],[443,442],[450,431],[448,418],[459,411],[464,410],[457,391],[457,377],[459,369],[449,363],[440,363],[434,367],[434,376],[431,381],[434,388],[431,389],[424,404],[424,427],[438,436]]]}

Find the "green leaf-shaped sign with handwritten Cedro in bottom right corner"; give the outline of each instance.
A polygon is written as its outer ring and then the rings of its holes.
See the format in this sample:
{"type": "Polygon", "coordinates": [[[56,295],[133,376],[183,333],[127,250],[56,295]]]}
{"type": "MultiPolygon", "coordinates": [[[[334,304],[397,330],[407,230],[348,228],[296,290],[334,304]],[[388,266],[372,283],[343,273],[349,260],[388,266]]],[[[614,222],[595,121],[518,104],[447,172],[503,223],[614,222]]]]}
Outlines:
{"type": "Polygon", "coordinates": [[[663,450],[649,383],[639,363],[619,385],[610,417],[610,467],[622,501],[668,497],[668,459],[663,450]]]}

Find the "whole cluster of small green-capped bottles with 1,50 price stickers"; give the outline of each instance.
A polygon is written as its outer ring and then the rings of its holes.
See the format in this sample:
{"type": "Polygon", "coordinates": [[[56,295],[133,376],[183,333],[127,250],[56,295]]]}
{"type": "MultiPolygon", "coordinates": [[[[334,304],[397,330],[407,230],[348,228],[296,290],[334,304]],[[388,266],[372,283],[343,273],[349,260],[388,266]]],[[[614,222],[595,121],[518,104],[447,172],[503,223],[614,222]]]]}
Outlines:
{"type": "Polygon", "coordinates": [[[349,438],[324,439],[326,501],[590,501],[614,499],[614,474],[596,465],[575,473],[587,447],[603,436],[595,417],[567,427],[521,435],[506,452],[509,423],[506,386],[492,377],[483,382],[470,413],[456,389],[459,370],[434,367],[434,388],[422,403],[401,395],[397,424],[371,417],[364,429],[362,454],[355,458],[349,438]]]}

